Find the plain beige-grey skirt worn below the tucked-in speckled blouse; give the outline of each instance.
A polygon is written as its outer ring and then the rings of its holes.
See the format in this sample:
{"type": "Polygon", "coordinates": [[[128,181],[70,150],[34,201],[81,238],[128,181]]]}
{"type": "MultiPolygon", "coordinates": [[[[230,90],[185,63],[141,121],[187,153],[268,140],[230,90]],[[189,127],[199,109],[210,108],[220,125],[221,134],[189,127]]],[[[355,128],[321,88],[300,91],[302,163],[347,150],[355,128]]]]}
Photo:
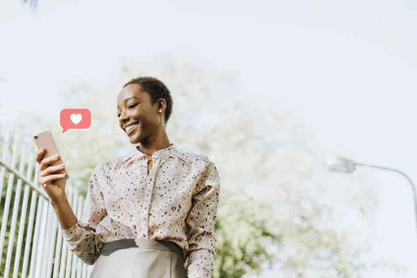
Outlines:
{"type": "Polygon", "coordinates": [[[187,278],[175,243],[123,239],[104,243],[90,278],[187,278]]]}

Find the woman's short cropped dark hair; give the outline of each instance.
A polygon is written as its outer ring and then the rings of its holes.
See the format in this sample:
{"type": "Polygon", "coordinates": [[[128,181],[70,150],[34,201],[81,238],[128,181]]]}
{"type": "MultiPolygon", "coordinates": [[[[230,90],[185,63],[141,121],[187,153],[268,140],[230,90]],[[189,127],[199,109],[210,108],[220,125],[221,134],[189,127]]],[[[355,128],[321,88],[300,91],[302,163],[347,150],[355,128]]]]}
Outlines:
{"type": "Polygon", "coordinates": [[[141,76],[136,79],[132,79],[128,83],[124,84],[123,88],[130,84],[138,84],[144,92],[147,92],[151,97],[151,103],[155,104],[158,99],[165,99],[167,107],[165,108],[165,123],[168,122],[172,114],[172,97],[170,90],[160,80],[150,77],[141,76]]]}

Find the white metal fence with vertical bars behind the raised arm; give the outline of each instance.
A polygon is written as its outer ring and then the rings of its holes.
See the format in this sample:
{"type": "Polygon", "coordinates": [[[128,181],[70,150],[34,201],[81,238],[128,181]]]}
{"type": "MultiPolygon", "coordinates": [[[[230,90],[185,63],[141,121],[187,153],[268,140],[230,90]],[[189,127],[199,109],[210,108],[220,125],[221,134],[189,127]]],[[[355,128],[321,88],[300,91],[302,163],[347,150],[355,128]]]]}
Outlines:
{"type": "MultiPolygon", "coordinates": [[[[33,138],[0,126],[0,148],[0,277],[90,277],[92,266],[67,250],[38,185],[33,138]]],[[[83,196],[67,183],[67,197],[79,217],[83,196]]]]}

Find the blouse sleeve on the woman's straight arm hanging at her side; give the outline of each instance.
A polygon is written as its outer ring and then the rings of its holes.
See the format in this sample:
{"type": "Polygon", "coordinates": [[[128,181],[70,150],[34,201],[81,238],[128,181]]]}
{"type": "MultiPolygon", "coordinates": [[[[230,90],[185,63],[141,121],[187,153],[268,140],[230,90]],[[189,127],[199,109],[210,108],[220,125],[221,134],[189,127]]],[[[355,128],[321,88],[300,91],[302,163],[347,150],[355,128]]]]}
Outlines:
{"type": "Polygon", "coordinates": [[[188,278],[212,277],[218,238],[214,233],[220,193],[220,178],[209,163],[195,188],[188,224],[188,278]]]}

